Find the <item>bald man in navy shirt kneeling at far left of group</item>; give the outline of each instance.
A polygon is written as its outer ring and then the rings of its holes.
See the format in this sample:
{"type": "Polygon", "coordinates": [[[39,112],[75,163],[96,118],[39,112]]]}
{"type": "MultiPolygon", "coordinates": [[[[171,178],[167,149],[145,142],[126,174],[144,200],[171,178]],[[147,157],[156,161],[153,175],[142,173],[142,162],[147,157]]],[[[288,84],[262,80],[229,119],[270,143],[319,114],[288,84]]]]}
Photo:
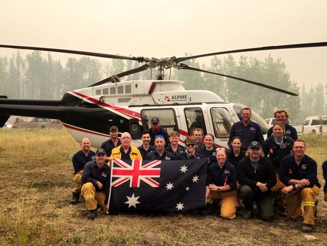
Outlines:
{"type": "Polygon", "coordinates": [[[69,202],[72,205],[78,203],[80,188],[81,188],[81,175],[83,174],[83,169],[85,164],[89,161],[95,160],[95,153],[90,150],[91,142],[88,138],[83,138],[81,143],[81,150],[78,151],[72,157],[72,165],[74,167],[74,174],[72,175],[72,180],[75,183],[75,187],[72,189],[72,199],[69,202]]]}

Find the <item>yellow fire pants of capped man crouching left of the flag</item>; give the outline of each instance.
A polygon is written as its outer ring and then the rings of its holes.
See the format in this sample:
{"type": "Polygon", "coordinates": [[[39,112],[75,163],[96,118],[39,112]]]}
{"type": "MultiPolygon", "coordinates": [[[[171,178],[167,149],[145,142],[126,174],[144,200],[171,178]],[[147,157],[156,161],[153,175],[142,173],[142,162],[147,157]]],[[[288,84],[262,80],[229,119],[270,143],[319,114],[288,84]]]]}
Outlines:
{"type": "Polygon", "coordinates": [[[102,208],[99,208],[98,211],[102,213],[107,212],[107,205],[105,204],[106,194],[104,192],[96,192],[93,183],[87,182],[83,184],[81,195],[86,201],[88,210],[97,209],[97,205],[99,204],[102,208]]]}

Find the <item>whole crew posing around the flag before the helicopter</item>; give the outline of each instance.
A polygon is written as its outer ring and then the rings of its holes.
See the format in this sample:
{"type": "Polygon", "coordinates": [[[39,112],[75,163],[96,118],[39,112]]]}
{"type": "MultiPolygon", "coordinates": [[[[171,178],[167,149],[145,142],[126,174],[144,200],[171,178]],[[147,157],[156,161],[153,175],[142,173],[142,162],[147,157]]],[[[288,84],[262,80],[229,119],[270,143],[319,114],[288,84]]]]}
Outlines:
{"type": "MultiPolygon", "coordinates": [[[[118,139],[118,128],[109,130],[110,139],[94,153],[88,138],[81,141],[81,150],[72,158],[74,167],[73,197],[76,204],[82,195],[89,210],[88,219],[95,219],[97,210],[107,212],[110,188],[110,162],[113,158],[126,160],[188,160],[208,159],[206,207],[202,214],[215,212],[225,219],[236,217],[240,201],[244,204],[243,219],[250,219],[257,206],[258,217],[272,221],[276,208],[282,216],[303,219],[303,231],[312,231],[316,213],[315,196],[319,194],[316,162],[305,155],[305,143],[297,139],[296,130],[287,124],[285,110],[274,113],[276,122],[264,140],[260,126],[251,120],[251,109],[243,108],[241,120],[231,129],[230,151],[214,143],[214,136],[203,136],[201,128],[178,145],[180,135],[170,135],[160,126],[158,117],[151,119],[151,128],[142,133],[142,145],[131,145],[125,132],[118,139]]],[[[327,161],[323,163],[327,177],[327,161]]],[[[324,187],[326,193],[326,186],[324,187]]],[[[325,194],[327,202],[327,195],[325,194]]]]}

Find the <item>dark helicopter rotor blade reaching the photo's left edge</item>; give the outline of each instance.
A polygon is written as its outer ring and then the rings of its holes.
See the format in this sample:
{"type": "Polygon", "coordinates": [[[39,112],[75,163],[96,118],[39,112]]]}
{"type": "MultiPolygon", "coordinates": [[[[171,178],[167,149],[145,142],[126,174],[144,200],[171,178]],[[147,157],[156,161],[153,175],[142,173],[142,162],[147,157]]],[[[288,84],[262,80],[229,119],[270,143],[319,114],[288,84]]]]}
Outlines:
{"type": "Polygon", "coordinates": [[[115,54],[103,54],[103,53],[78,51],[78,50],[70,50],[70,49],[53,49],[53,48],[30,47],[30,46],[4,45],[4,44],[0,44],[0,47],[14,48],[14,49],[43,50],[43,51],[53,51],[53,52],[70,53],[70,54],[81,54],[81,55],[90,55],[90,56],[112,58],[112,59],[137,60],[139,62],[144,61],[144,57],[123,56],[123,55],[115,55],[115,54]]]}

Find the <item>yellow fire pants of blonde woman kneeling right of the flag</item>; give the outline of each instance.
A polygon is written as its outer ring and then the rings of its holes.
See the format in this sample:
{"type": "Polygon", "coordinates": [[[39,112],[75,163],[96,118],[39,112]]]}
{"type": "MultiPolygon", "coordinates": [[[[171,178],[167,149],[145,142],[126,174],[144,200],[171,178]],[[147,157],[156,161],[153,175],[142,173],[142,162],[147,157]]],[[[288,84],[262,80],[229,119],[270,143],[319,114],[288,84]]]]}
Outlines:
{"type": "Polygon", "coordinates": [[[221,201],[220,216],[224,219],[233,219],[236,217],[237,190],[228,192],[210,191],[207,203],[221,201]]]}

